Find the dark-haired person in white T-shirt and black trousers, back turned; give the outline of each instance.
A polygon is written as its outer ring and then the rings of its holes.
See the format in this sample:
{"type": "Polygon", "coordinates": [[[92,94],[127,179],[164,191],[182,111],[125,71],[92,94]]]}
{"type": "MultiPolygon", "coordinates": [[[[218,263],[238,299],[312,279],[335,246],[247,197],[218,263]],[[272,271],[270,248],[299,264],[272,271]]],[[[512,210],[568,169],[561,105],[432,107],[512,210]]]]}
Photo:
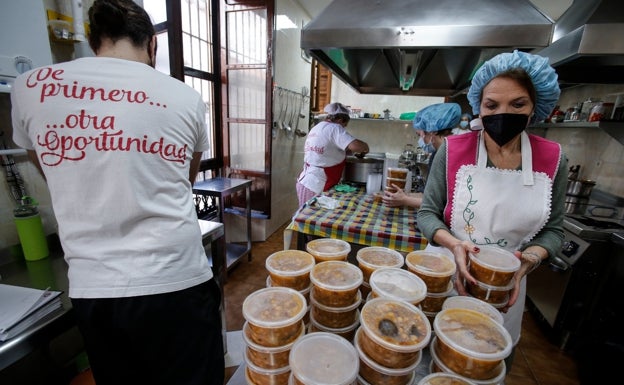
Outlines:
{"type": "Polygon", "coordinates": [[[95,57],[13,87],[14,141],[47,181],[69,297],[98,385],[223,385],[221,294],[192,184],[208,150],[201,95],[156,71],[132,0],[89,9],[95,57]]]}

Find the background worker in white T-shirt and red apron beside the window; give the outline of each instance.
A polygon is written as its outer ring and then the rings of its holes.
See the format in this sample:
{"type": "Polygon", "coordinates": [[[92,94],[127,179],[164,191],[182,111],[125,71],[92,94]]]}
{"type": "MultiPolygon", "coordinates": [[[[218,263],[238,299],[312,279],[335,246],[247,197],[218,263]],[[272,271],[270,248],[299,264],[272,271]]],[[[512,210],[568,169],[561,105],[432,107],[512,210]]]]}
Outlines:
{"type": "Polygon", "coordinates": [[[327,117],[312,127],[305,141],[303,171],[296,184],[299,207],[340,182],[347,153],[364,156],[369,152],[368,144],[345,129],[350,120],[347,107],[331,103],[324,111],[327,117]]]}

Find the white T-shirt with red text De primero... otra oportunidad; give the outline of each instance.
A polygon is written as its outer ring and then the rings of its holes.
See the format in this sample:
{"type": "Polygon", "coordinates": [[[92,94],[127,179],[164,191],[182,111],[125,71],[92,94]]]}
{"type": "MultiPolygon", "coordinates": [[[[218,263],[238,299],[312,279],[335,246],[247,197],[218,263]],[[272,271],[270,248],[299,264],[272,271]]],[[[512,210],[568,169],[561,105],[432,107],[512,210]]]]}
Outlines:
{"type": "Polygon", "coordinates": [[[72,298],[178,291],[212,277],[189,182],[209,149],[206,107],[134,61],[89,57],[15,80],[13,140],[35,150],[72,298]]]}

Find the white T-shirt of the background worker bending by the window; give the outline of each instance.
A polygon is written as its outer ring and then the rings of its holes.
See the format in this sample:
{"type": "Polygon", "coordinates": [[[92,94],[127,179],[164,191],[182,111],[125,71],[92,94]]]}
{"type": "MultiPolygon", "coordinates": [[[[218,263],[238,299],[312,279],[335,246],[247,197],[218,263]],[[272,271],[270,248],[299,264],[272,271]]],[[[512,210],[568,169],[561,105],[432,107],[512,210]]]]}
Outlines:
{"type": "Polygon", "coordinates": [[[304,167],[298,181],[320,193],[327,180],[323,167],[335,166],[345,160],[347,146],[355,138],[338,123],[323,121],[312,127],[304,145],[304,167]]]}

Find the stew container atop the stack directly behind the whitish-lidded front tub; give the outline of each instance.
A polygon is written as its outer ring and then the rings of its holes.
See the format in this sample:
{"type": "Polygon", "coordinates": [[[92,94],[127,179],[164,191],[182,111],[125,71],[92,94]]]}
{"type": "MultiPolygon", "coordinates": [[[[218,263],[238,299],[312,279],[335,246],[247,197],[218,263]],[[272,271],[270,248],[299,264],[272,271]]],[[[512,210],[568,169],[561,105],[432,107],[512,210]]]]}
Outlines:
{"type": "Polygon", "coordinates": [[[310,272],[311,296],[325,306],[345,307],[358,299],[362,285],[362,271],[349,262],[326,261],[317,263],[310,272]]]}

